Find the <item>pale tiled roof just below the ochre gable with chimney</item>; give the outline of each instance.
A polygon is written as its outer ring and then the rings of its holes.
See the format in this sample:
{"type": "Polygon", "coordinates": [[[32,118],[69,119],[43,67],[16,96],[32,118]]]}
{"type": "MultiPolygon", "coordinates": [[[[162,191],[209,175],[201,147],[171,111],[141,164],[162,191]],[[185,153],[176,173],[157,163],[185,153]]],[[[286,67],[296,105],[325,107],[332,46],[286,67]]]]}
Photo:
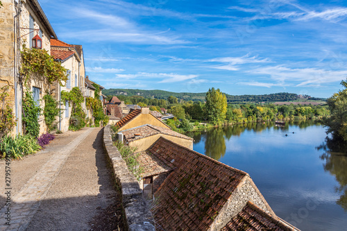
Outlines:
{"type": "Polygon", "coordinates": [[[146,124],[144,126],[139,126],[136,128],[130,128],[128,130],[122,131],[122,133],[127,142],[133,142],[134,140],[143,139],[144,137],[150,137],[152,135],[157,135],[157,134],[171,135],[173,137],[193,140],[192,137],[187,137],[186,135],[175,132],[169,128],[162,128],[158,126],[153,126],[151,124],[146,124]],[[135,136],[135,134],[139,134],[139,135],[135,136]]]}

